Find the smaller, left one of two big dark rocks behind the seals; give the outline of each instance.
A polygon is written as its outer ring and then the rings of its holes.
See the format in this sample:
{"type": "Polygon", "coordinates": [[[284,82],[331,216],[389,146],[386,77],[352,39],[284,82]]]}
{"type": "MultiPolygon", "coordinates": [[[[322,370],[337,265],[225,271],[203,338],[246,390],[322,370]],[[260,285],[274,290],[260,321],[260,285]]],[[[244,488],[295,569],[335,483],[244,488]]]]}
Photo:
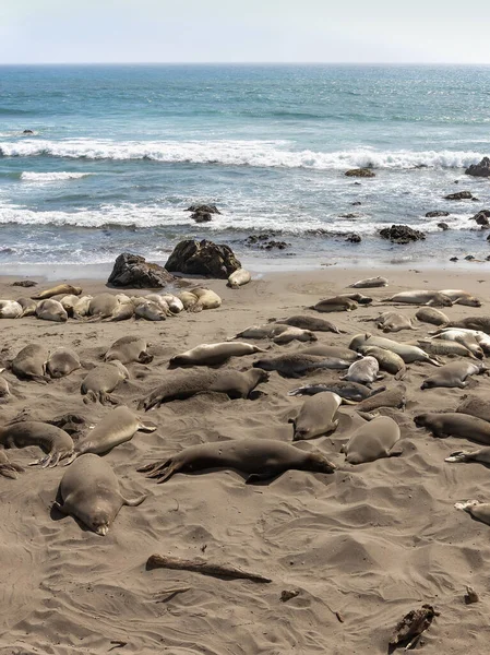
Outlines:
{"type": "Polygon", "coordinates": [[[107,283],[117,287],[156,289],[174,279],[163,266],[152,264],[139,254],[123,252],[116,260],[107,283]]]}

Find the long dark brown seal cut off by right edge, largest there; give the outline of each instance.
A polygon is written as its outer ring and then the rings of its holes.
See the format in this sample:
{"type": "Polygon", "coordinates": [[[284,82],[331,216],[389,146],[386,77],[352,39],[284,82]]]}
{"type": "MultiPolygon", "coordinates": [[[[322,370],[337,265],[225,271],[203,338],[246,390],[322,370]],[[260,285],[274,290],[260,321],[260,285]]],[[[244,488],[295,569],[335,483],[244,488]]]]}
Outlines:
{"type": "Polygon", "coordinates": [[[454,412],[428,412],[416,416],[414,422],[418,428],[427,428],[438,438],[462,437],[490,445],[490,424],[476,416],[454,412]]]}

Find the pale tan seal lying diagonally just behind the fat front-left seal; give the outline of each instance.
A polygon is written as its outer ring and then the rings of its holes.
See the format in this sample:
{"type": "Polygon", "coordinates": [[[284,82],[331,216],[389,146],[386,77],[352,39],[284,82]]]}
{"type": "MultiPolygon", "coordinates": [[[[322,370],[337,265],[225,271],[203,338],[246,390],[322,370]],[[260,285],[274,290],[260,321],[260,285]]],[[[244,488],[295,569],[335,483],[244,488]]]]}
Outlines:
{"type": "Polygon", "coordinates": [[[96,455],[107,453],[116,445],[130,441],[138,431],[154,432],[155,430],[156,426],[140,420],[131,409],[120,405],[111,409],[93,430],[76,442],[65,466],[85,453],[96,455]]]}

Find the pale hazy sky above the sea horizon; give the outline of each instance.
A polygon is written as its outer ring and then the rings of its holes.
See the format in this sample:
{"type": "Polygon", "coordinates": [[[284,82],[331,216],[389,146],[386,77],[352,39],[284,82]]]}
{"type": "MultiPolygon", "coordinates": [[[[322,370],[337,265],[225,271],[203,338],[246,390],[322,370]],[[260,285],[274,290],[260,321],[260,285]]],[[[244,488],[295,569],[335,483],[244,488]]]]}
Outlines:
{"type": "Polygon", "coordinates": [[[0,63],[490,63],[471,0],[0,0],[0,63]]]}

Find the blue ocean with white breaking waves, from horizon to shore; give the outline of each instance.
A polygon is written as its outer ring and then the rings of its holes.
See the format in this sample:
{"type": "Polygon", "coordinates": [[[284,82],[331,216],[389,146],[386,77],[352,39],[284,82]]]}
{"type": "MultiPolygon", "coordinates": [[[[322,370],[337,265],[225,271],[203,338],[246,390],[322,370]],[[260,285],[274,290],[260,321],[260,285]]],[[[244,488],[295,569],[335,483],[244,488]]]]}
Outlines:
{"type": "Polygon", "coordinates": [[[485,260],[490,181],[464,169],[490,155],[489,99],[490,67],[0,67],[0,265],[165,261],[184,238],[255,270],[485,260]],[[463,190],[479,201],[444,200],[463,190]],[[393,223],[427,239],[381,239],[393,223]]]}

